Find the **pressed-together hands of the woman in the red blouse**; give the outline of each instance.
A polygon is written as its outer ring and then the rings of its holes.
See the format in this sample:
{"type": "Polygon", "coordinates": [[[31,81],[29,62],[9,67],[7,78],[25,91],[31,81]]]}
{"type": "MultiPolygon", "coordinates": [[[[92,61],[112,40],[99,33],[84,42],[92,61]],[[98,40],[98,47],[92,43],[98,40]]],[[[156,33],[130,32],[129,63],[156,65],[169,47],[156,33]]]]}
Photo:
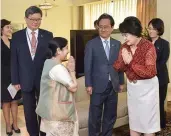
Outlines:
{"type": "Polygon", "coordinates": [[[132,54],[128,52],[126,48],[122,49],[122,58],[125,64],[129,64],[132,61],[132,54]]]}

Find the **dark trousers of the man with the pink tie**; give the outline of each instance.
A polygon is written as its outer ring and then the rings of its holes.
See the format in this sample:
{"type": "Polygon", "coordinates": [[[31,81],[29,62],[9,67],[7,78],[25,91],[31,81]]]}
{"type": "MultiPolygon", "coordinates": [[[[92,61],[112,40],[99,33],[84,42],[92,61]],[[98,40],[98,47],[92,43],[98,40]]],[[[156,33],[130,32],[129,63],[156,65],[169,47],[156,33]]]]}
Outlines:
{"type": "Polygon", "coordinates": [[[40,117],[37,116],[35,110],[39,99],[39,91],[35,88],[31,92],[22,92],[24,115],[27,131],[30,136],[45,136],[40,132],[40,117]]]}

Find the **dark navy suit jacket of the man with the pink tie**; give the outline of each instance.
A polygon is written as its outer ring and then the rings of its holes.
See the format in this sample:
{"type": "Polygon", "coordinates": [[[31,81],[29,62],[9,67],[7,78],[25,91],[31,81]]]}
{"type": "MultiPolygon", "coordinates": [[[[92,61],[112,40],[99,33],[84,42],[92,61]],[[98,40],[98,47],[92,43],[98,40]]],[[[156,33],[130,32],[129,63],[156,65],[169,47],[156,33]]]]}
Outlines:
{"type": "Polygon", "coordinates": [[[48,42],[53,38],[51,32],[39,29],[38,45],[34,60],[31,58],[26,29],[13,34],[11,41],[11,80],[12,84],[20,84],[22,91],[30,92],[33,87],[40,90],[40,78],[48,42]]]}

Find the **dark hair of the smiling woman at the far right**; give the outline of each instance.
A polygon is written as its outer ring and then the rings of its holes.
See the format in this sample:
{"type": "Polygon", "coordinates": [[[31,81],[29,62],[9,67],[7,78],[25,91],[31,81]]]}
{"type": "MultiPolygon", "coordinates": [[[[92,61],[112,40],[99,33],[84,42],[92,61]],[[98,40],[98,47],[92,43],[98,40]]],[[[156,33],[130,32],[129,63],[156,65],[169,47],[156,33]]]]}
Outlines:
{"type": "Polygon", "coordinates": [[[152,25],[154,29],[158,31],[158,35],[161,36],[164,33],[164,22],[160,18],[153,18],[149,23],[152,25]]]}

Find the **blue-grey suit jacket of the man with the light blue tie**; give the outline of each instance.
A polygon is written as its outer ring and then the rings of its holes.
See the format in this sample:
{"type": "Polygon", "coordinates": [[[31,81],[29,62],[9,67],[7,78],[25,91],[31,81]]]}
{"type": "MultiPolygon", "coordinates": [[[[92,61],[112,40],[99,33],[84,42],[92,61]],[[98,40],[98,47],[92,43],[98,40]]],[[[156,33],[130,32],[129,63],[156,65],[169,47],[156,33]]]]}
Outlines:
{"type": "Polygon", "coordinates": [[[119,91],[119,85],[124,84],[124,74],[113,68],[119,55],[121,43],[110,39],[110,55],[107,59],[100,37],[89,41],[85,49],[84,70],[85,85],[93,87],[95,93],[103,93],[109,81],[109,74],[114,90],[119,91]]]}

